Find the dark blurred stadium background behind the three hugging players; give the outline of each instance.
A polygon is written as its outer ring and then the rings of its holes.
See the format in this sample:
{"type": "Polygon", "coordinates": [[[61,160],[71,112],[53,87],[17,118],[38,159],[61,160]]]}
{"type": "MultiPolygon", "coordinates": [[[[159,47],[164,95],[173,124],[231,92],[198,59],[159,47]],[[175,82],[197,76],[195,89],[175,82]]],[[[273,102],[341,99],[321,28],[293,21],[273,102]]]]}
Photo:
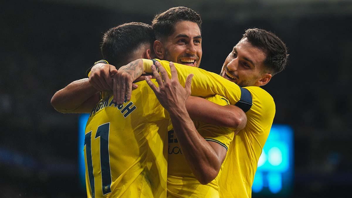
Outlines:
{"type": "Polygon", "coordinates": [[[292,177],[282,175],[292,181],[284,184],[288,190],[283,194],[253,197],[350,197],[352,1],[41,0],[0,5],[0,197],[86,197],[78,177],[78,115],[56,112],[50,99],[85,78],[86,69],[100,60],[103,32],[130,21],[150,23],[157,12],[180,5],[202,16],[201,67],[209,71],[220,72],[249,27],[275,32],[289,48],[287,69],[263,88],[276,102],[274,123],[293,131],[292,177]]]}

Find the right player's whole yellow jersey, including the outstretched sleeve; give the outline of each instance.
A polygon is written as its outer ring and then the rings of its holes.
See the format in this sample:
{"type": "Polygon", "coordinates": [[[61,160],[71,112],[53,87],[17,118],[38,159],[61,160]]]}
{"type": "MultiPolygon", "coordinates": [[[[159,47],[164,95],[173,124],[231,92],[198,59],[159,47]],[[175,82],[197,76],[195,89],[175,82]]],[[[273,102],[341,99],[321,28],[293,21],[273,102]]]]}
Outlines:
{"type": "MultiPolygon", "coordinates": [[[[169,76],[171,70],[168,61],[158,60],[169,76]]],[[[191,95],[224,95],[230,104],[236,104],[241,98],[241,88],[234,82],[206,70],[175,64],[181,84],[189,74],[194,74],[191,95]]],[[[223,164],[219,179],[220,197],[251,197],[251,187],[257,163],[268,138],[275,116],[275,103],[271,95],[260,87],[245,87],[252,97],[252,107],[246,112],[247,125],[233,139],[223,164]]],[[[171,166],[171,164],[169,165],[171,166]]]]}

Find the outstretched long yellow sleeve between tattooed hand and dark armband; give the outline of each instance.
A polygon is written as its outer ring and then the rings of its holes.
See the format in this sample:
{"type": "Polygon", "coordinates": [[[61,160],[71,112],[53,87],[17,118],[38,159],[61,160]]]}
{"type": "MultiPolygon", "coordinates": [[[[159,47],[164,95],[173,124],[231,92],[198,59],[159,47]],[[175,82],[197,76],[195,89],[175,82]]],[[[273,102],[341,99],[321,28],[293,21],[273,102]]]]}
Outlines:
{"type": "MultiPolygon", "coordinates": [[[[170,62],[158,59],[155,60],[161,63],[169,77],[171,77],[171,70],[169,66],[170,62]]],[[[177,70],[178,80],[182,86],[184,86],[187,76],[189,74],[194,74],[191,84],[191,95],[207,97],[210,95],[219,94],[226,97],[232,105],[236,104],[240,100],[241,89],[236,83],[222,78],[219,74],[208,72],[204,69],[178,63],[174,64],[177,70]]],[[[146,72],[150,71],[147,70],[146,72]]]]}

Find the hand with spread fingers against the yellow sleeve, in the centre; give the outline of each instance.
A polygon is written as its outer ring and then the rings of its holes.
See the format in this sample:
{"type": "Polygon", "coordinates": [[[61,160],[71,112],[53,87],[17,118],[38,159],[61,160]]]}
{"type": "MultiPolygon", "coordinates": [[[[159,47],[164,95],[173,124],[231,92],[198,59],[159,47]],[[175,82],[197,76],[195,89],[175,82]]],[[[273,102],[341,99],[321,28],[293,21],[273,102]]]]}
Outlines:
{"type": "Polygon", "coordinates": [[[178,75],[174,63],[170,62],[171,79],[166,72],[166,70],[161,66],[159,62],[156,62],[161,76],[157,72],[154,65],[152,65],[153,75],[158,82],[159,87],[156,87],[154,83],[150,81],[150,78],[146,77],[150,88],[154,91],[160,104],[169,111],[169,113],[177,112],[177,109],[182,106],[186,108],[186,100],[191,94],[191,83],[193,74],[187,76],[184,87],[178,82],[178,75]]]}

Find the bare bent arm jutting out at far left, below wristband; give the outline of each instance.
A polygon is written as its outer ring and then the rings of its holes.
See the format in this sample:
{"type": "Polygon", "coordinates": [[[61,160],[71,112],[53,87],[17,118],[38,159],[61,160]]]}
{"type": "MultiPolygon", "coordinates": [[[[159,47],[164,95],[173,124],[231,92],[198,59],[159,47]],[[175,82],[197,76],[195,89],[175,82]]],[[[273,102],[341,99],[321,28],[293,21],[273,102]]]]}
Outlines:
{"type": "Polygon", "coordinates": [[[57,91],[51,98],[51,105],[63,113],[89,112],[89,109],[93,108],[90,106],[99,101],[95,96],[97,93],[99,92],[90,85],[88,78],[76,80],[57,91]]]}

